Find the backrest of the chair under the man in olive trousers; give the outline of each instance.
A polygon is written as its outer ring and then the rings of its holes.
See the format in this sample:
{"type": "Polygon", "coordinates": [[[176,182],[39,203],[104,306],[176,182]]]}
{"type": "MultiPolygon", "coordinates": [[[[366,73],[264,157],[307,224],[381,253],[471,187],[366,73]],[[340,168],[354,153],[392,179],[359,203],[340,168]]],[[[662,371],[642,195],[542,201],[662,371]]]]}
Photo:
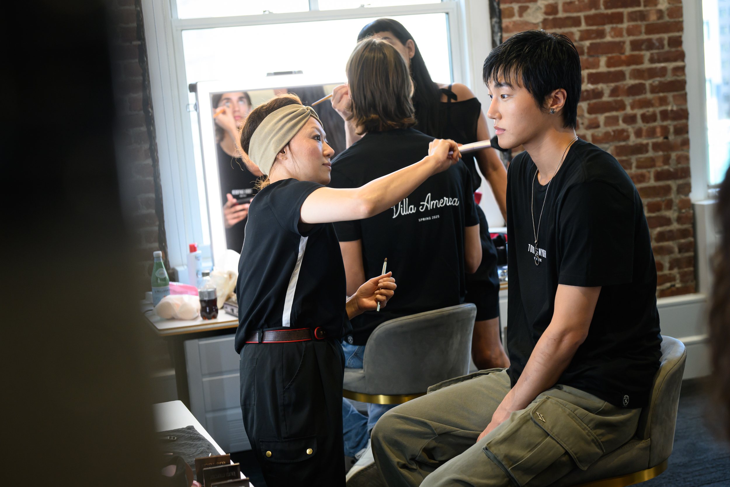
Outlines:
{"type": "Polygon", "coordinates": [[[682,342],[662,335],[661,364],[654,376],[651,399],[639,416],[637,437],[651,438],[649,468],[655,467],[672,454],[675,442],[677,407],[687,358],[682,342]]]}

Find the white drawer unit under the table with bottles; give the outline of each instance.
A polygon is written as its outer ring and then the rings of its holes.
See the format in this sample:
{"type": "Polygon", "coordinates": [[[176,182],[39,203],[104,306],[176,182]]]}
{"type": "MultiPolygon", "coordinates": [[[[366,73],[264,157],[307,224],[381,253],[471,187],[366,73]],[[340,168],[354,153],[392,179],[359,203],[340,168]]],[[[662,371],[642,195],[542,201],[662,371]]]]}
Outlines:
{"type": "Polygon", "coordinates": [[[250,450],[241,415],[235,335],[185,341],[190,410],[228,453],[250,450]]]}

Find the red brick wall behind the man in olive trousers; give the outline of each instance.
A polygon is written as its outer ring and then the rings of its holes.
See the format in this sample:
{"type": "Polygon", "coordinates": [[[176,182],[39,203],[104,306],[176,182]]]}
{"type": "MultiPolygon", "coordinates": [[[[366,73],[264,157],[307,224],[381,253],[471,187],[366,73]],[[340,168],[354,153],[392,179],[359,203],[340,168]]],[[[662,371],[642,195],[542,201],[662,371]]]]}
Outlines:
{"type": "Polygon", "coordinates": [[[502,0],[504,38],[566,34],[583,67],[577,134],[621,163],[644,202],[657,296],[694,292],[681,0],[502,0]]]}

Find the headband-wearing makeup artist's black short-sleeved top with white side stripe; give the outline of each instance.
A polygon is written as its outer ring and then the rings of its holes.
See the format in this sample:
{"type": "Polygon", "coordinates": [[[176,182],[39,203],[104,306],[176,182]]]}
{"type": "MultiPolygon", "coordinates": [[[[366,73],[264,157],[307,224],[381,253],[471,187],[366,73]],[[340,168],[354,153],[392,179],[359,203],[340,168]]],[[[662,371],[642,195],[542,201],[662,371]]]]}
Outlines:
{"type": "Polygon", "coordinates": [[[299,210],[311,181],[280,180],[251,202],[246,242],[238,264],[236,351],[258,329],[325,329],[341,339],[350,332],[345,312],[345,266],[331,223],[299,232],[299,210]]]}

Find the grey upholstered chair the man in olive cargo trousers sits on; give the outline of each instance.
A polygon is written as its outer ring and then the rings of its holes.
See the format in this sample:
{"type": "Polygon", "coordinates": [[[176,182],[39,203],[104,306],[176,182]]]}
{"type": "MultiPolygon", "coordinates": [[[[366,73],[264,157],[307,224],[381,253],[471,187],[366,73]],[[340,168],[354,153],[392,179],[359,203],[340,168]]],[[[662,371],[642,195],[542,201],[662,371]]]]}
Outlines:
{"type": "Polygon", "coordinates": [[[642,410],[633,439],[602,456],[586,470],[576,469],[550,487],[624,487],[655,478],[666,470],[675,440],[677,406],[687,353],[682,342],[662,337],[661,366],[650,403],[642,410]]]}

